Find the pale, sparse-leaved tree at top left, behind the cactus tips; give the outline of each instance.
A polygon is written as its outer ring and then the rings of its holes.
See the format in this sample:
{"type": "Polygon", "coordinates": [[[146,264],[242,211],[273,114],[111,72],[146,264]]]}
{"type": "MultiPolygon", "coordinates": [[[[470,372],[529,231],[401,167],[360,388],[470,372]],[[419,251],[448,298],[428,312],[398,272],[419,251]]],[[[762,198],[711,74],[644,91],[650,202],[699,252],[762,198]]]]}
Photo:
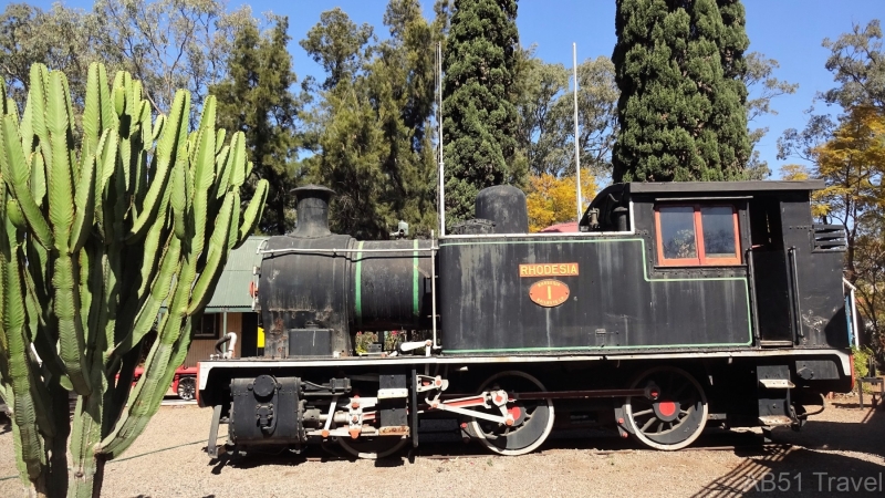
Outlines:
{"type": "Polygon", "coordinates": [[[88,64],[101,61],[140,80],[156,112],[169,111],[176,89],[190,91],[198,112],[226,74],[235,33],[253,22],[248,7],[227,12],[220,0],[97,0],[91,12],[11,4],[0,17],[0,68],[21,108],[32,62],[69,74],[77,105],[88,64]]]}

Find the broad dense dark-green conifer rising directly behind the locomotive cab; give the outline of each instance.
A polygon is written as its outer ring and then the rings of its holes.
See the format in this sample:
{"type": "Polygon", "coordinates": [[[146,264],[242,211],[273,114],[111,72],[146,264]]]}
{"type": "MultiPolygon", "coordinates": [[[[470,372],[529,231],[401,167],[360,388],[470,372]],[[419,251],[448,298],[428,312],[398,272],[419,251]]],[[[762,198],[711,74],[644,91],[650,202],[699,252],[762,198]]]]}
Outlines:
{"type": "Polygon", "coordinates": [[[617,1],[615,181],[745,177],[743,22],[739,1],[617,1]]]}

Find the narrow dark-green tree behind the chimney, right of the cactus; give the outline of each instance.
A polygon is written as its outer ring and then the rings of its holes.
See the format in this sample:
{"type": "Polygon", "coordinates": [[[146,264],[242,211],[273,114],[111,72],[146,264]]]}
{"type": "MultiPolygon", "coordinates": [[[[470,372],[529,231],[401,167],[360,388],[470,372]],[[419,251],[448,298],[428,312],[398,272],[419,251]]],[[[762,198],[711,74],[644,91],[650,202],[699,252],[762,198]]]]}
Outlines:
{"type": "Polygon", "coordinates": [[[218,98],[218,123],[246,135],[252,177],[243,185],[243,199],[250,199],[259,179],[270,184],[267,210],[259,229],[264,234],[285,234],[294,226],[293,198],[289,190],[298,184],[295,167],[299,147],[298,96],[292,93],[295,74],[287,50],[289,20],[272,17],[273,27],[261,35],[247,24],[237,33],[227,62],[228,79],[210,87],[218,98]]]}

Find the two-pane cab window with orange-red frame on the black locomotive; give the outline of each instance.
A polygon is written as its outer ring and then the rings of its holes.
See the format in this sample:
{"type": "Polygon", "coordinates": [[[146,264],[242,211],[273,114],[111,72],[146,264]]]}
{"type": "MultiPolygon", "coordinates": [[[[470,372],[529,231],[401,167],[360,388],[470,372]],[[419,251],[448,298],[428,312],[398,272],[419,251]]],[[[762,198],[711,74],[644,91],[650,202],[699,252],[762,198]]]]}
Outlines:
{"type": "Polygon", "coordinates": [[[655,208],[662,266],[740,264],[733,206],[669,205],[655,208]]]}

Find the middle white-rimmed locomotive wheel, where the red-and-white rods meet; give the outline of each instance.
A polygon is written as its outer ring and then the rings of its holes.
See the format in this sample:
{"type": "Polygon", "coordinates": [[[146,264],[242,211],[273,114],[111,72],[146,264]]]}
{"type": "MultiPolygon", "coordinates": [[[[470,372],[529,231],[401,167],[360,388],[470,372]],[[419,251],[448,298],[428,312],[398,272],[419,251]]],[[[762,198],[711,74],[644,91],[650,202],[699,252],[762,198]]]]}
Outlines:
{"type": "MultiPolygon", "coordinates": [[[[480,392],[504,390],[508,393],[546,391],[538,378],[519,371],[501,372],[482,383],[480,392]]],[[[483,446],[500,455],[525,455],[541,446],[553,429],[553,400],[518,400],[507,403],[514,424],[473,418],[471,428],[483,446]]],[[[482,411],[500,415],[499,408],[482,411]]]]}

